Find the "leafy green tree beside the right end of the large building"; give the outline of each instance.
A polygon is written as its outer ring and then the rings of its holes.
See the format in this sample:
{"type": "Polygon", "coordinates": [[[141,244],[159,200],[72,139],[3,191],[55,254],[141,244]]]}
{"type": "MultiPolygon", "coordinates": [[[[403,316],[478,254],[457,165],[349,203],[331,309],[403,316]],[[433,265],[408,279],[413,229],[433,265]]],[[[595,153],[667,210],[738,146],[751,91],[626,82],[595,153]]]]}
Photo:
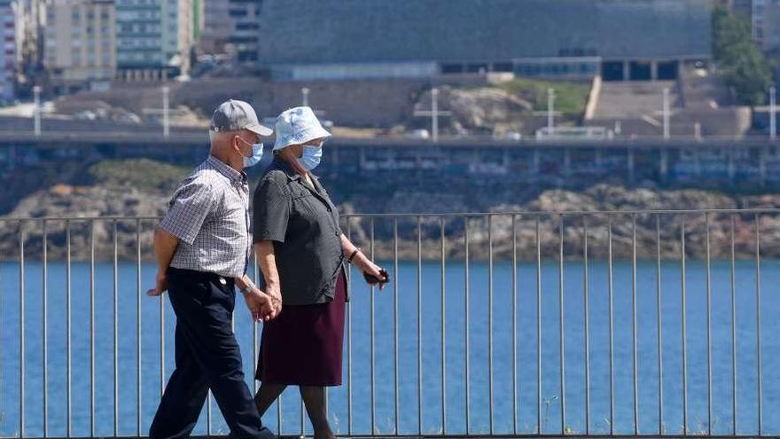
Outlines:
{"type": "Polygon", "coordinates": [[[714,9],[713,55],[740,103],[764,104],[772,83],[772,68],[753,43],[747,20],[723,8],[714,9]]]}

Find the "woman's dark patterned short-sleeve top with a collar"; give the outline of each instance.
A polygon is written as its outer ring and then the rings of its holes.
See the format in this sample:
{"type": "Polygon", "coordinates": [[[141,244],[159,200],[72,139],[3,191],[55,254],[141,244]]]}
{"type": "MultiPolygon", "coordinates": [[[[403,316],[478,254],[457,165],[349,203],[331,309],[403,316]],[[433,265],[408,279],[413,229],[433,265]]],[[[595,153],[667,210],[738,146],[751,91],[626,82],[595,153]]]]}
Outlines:
{"type": "Polygon", "coordinates": [[[253,241],[273,241],[285,305],[332,301],[344,267],[339,212],[311,179],[275,158],[254,191],[253,241]]]}

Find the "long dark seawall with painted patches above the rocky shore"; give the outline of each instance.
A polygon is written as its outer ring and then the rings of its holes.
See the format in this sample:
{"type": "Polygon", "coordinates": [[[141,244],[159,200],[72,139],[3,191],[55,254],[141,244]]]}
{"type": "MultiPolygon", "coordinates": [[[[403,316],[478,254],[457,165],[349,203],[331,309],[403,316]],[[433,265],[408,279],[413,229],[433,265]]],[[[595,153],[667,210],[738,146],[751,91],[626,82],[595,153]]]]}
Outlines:
{"type": "MultiPolygon", "coordinates": [[[[63,161],[150,158],[182,165],[202,161],[206,136],[164,143],[98,141],[74,137],[0,140],[0,169],[34,168],[63,161]]],[[[597,182],[703,187],[780,188],[780,142],[675,141],[512,143],[333,139],[317,174],[394,184],[541,184],[587,187],[597,182]]],[[[264,162],[270,160],[266,154],[264,162]]],[[[250,169],[258,176],[262,164],[250,169]]]]}

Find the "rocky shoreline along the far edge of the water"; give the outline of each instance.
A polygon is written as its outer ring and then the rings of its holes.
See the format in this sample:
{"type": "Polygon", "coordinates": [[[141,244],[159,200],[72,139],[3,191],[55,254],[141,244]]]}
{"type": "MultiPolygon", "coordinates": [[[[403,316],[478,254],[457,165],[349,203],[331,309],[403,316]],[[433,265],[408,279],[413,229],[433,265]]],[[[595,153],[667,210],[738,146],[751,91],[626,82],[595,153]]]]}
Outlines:
{"type": "MultiPolygon", "coordinates": [[[[416,194],[419,197],[421,194],[416,194]]],[[[429,206],[444,207],[452,194],[428,193],[429,206]]],[[[482,195],[482,202],[489,202],[489,194],[482,195]],[[487,200],[487,201],[486,201],[487,200]]],[[[394,194],[393,199],[403,198],[394,194]]],[[[505,197],[500,197],[505,199],[505,197]]],[[[705,258],[707,253],[707,225],[709,251],[714,259],[729,258],[733,228],[734,253],[738,258],[753,258],[756,247],[756,225],[761,231],[761,256],[780,257],[780,215],[703,213],[660,215],[614,213],[572,215],[566,212],[600,212],[646,209],[706,209],[706,208],[775,208],[780,205],[780,195],[729,195],[700,190],[651,190],[626,189],[620,186],[600,184],[573,192],[551,190],[539,192],[521,204],[500,203],[493,200],[487,216],[472,216],[468,220],[469,254],[479,260],[488,256],[488,244],[493,243],[496,259],[508,259],[516,248],[520,260],[534,260],[537,252],[537,223],[539,247],[543,258],[558,258],[560,232],[563,231],[564,257],[581,259],[584,255],[585,227],[588,231],[589,257],[605,259],[609,251],[609,228],[612,225],[612,255],[616,259],[633,256],[636,240],[636,257],[653,259],[677,259],[683,251],[681,234],[685,231],[685,253],[692,258],[705,258]],[[534,214],[534,212],[551,212],[534,214]],[[513,213],[515,215],[510,215],[513,213]],[[561,215],[562,214],[562,215],[561,215]],[[561,220],[563,224],[561,225],[561,220]],[[488,223],[491,233],[488,233],[488,223]],[[636,224],[636,225],[635,225],[636,224]],[[514,230],[512,228],[514,225],[514,230]],[[635,238],[636,237],[636,238],[635,238]],[[659,240],[660,238],[660,240],[659,240]]],[[[168,194],[140,192],[118,186],[53,186],[35,192],[21,200],[5,218],[48,217],[105,217],[126,216],[158,217],[165,213],[168,194]]],[[[342,213],[362,211],[352,203],[341,205],[342,213]]],[[[391,210],[395,213],[407,213],[391,210]]],[[[409,212],[409,213],[417,213],[409,212]]],[[[371,250],[369,217],[355,216],[348,220],[349,232],[355,242],[367,252],[371,250]]],[[[344,220],[343,225],[347,225],[344,220]]],[[[135,260],[140,245],[144,261],[152,260],[153,219],[99,220],[90,223],[71,220],[71,255],[74,260],[87,260],[91,252],[91,237],[95,238],[95,255],[98,260],[111,260],[114,253],[114,227],[116,228],[116,253],[121,260],[135,260]],[[140,225],[140,242],[137,236],[140,225]],[[94,230],[93,230],[94,227],[94,230]]],[[[46,224],[47,253],[51,260],[66,256],[66,221],[49,221],[46,224]]],[[[402,259],[438,259],[441,256],[441,228],[444,229],[444,254],[448,259],[462,259],[465,254],[463,216],[398,217],[397,253],[402,259]],[[421,239],[417,247],[417,227],[421,239]]],[[[347,231],[347,228],[344,228],[347,231]]],[[[0,251],[5,260],[16,260],[20,254],[20,233],[25,235],[25,254],[28,260],[40,260],[43,254],[42,221],[0,222],[0,251]]],[[[396,251],[394,219],[378,217],[373,221],[374,253],[378,259],[391,259],[396,251]]]]}

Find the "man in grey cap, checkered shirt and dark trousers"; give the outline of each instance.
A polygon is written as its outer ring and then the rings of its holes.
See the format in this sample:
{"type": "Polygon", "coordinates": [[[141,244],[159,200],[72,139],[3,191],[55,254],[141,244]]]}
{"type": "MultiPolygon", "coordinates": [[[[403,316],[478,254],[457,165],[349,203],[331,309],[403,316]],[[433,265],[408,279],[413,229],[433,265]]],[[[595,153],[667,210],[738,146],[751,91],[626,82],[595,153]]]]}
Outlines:
{"type": "Polygon", "coordinates": [[[246,102],[219,106],[209,130],[208,158],[176,189],[154,233],[160,270],[147,294],[169,292],[176,314],[176,367],[152,421],[152,439],[189,437],[209,388],[232,437],[276,437],[262,427],[230,325],[234,286],[255,320],[276,314],[269,296],[246,276],[252,239],[244,168],[260,161],[261,136],[272,132],[246,102]]]}

